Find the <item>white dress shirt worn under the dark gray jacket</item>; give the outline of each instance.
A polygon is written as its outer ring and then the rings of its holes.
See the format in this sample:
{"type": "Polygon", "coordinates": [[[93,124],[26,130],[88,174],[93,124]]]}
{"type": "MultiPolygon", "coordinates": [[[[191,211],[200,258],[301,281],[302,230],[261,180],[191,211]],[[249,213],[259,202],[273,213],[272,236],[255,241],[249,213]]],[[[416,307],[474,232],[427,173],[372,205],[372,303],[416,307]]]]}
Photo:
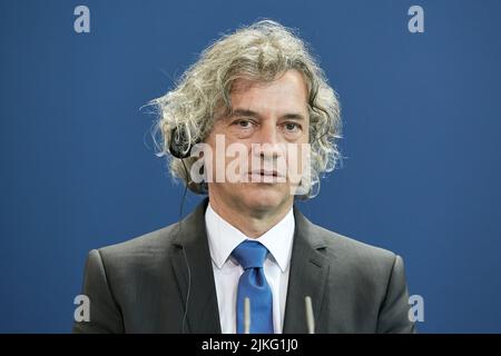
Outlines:
{"type": "MultiPolygon", "coordinates": [[[[235,247],[249,238],[214,211],[210,202],[205,211],[205,224],[213,259],[220,329],[223,334],[235,334],[237,288],[244,269],[230,255],[235,247]]],[[[294,214],[291,208],[274,227],[259,238],[253,239],[263,244],[269,251],[264,263],[264,273],[273,294],[275,334],[282,334],[284,325],[294,228],[294,214]]]]}

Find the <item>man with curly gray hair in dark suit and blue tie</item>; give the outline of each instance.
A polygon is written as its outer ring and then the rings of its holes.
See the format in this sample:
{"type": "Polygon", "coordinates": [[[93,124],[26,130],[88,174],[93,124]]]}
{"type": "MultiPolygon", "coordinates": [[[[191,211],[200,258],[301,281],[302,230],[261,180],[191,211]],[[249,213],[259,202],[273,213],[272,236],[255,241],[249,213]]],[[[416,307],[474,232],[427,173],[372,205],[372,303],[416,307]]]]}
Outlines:
{"type": "Polygon", "coordinates": [[[294,205],[318,192],[341,134],[336,96],[299,38],[273,21],[239,29],[154,103],[171,174],[208,199],[92,250],[90,320],[73,332],[307,333],[306,297],[316,333],[414,332],[402,258],[294,205]]]}

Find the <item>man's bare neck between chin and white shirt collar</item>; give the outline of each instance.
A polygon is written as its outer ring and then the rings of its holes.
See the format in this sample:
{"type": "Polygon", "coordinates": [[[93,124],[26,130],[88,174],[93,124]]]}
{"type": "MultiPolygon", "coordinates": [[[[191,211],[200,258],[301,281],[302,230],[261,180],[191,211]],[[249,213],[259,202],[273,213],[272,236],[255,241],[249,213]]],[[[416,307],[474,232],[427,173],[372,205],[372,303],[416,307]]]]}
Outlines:
{"type": "Polygon", "coordinates": [[[293,200],[285,201],[271,210],[252,209],[242,205],[234,207],[225,204],[222,199],[210,195],[209,191],[209,204],[217,215],[240,230],[245,236],[258,238],[287,215],[292,208],[293,200]]]}

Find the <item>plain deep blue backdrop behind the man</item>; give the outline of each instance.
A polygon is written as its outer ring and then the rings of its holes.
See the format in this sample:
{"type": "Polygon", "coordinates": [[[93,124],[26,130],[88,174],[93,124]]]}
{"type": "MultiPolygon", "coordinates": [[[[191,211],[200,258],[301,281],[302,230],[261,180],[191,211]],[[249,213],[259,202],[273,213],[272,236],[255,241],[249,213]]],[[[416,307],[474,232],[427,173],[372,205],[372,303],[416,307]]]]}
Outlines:
{"type": "Polygon", "coordinates": [[[303,211],[403,256],[420,332],[501,332],[497,0],[2,0],[0,332],[69,332],[88,250],[178,218],[140,107],[258,18],[299,29],[343,108],[343,168],[303,211]],[[78,4],[90,33],[73,31],[78,4]]]}

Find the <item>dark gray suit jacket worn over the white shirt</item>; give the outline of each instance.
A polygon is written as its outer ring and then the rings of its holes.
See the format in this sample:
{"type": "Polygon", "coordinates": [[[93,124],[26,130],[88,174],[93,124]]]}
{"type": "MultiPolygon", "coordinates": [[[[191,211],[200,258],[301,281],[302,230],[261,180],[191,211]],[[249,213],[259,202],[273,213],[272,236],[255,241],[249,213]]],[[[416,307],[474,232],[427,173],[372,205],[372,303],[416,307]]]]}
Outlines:
{"type": "MultiPolygon", "coordinates": [[[[82,291],[90,322],[75,323],[73,333],[183,333],[185,308],[185,333],[220,333],[207,202],[180,229],[174,224],[91,250],[82,291]]],[[[316,226],[296,207],[294,216],[284,333],[307,332],[305,296],[316,333],[414,332],[401,257],[316,226]]]]}

